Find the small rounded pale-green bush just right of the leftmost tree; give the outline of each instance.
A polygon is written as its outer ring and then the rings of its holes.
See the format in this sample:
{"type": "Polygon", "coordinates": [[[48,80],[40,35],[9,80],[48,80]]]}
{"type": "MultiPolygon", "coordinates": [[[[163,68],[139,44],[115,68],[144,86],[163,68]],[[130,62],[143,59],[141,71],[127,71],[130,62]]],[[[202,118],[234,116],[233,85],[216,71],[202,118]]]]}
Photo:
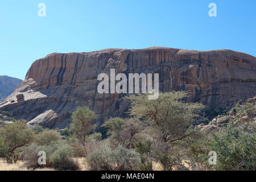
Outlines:
{"type": "Polygon", "coordinates": [[[45,130],[36,135],[35,143],[43,146],[57,140],[60,140],[60,135],[56,131],[45,130]]]}

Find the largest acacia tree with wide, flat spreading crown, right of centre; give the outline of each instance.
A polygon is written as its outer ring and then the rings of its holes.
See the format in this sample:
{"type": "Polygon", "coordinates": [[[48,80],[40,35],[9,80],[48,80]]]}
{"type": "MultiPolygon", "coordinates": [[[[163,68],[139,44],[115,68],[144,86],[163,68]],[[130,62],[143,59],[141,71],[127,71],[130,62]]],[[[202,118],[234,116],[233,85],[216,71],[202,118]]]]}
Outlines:
{"type": "Polygon", "coordinates": [[[131,95],[130,115],[150,124],[155,154],[164,169],[170,169],[171,150],[193,134],[192,123],[196,110],[204,106],[184,101],[187,92],[160,93],[158,99],[148,100],[147,94],[131,95]]]}

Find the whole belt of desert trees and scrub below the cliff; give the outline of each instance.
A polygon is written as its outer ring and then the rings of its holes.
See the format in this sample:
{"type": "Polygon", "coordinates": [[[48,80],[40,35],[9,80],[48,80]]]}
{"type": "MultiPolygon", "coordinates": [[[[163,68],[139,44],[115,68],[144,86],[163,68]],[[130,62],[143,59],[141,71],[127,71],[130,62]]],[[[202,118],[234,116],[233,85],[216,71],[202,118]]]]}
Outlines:
{"type": "Polygon", "coordinates": [[[96,114],[88,107],[77,107],[71,127],[63,130],[28,128],[1,115],[0,158],[31,170],[255,170],[255,102],[238,102],[213,117],[205,106],[185,102],[187,96],[127,96],[129,117],[106,120],[104,135],[96,132],[96,114]],[[209,163],[210,151],[217,154],[215,164],[209,163]]]}

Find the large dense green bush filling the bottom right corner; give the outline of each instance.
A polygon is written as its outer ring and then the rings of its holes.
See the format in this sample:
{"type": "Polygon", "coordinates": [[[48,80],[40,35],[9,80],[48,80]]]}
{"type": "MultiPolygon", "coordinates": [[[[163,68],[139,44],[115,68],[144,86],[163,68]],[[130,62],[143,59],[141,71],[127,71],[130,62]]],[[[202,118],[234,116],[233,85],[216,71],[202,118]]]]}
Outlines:
{"type": "Polygon", "coordinates": [[[216,135],[209,143],[211,151],[217,152],[217,170],[254,170],[256,169],[255,127],[243,125],[228,127],[216,135]]]}

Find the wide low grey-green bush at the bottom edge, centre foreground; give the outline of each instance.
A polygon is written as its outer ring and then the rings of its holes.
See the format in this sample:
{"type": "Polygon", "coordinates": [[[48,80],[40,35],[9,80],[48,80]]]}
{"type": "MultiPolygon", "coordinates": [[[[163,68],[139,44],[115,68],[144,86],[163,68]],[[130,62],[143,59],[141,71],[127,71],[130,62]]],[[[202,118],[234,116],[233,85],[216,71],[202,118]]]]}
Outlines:
{"type": "Polygon", "coordinates": [[[118,146],[114,150],[104,146],[90,153],[86,162],[91,170],[125,170],[130,171],[139,167],[141,160],[139,154],[133,150],[129,150],[122,146],[118,146]]]}

